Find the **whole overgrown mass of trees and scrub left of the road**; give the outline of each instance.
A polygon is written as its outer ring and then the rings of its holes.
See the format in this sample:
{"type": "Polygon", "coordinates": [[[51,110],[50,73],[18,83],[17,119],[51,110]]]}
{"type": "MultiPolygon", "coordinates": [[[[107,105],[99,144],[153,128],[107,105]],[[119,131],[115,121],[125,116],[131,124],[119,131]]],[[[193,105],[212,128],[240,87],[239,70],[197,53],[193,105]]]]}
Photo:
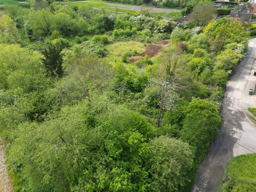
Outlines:
{"type": "Polygon", "coordinates": [[[66,2],[5,9],[0,133],[15,191],[190,190],[247,46],[238,21],[175,28],[148,10],[116,16],[66,2]],[[128,61],[168,38],[154,60],[128,61]]]}

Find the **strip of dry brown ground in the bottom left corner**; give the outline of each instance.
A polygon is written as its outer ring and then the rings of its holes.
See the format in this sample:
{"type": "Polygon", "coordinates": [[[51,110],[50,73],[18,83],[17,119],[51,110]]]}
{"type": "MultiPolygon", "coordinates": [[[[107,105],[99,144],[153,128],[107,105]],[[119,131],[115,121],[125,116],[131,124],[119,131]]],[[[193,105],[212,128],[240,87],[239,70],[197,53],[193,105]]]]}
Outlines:
{"type": "Polygon", "coordinates": [[[4,142],[0,136],[0,191],[13,192],[13,186],[10,177],[7,175],[5,163],[5,149],[4,142]]]}

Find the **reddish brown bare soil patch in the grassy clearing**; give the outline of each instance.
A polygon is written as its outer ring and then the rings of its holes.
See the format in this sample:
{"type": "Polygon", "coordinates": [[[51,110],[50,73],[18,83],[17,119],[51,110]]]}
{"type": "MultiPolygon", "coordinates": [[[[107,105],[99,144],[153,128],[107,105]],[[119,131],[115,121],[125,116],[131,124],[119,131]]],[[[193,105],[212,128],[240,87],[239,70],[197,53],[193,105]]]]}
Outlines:
{"type": "Polygon", "coordinates": [[[161,41],[157,44],[149,45],[149,46],[147,46],[145,51],[143,51],[142,53],[137,54],[136,57],[132,57],[132,58],[128,59],[128,61],[130,61],[132,63],[135,63],[135,61],[140,59],[140,57],[144,57],[145,55],[147,55],[148,58],[154,57],[162,51],[162,48],[165,45],[167,45],[169,43],[170,43],[170,41],[166,40],[166,41],[161,41]],[[140,57],[137,57],[137,56],[140,56],[140,57]]]}

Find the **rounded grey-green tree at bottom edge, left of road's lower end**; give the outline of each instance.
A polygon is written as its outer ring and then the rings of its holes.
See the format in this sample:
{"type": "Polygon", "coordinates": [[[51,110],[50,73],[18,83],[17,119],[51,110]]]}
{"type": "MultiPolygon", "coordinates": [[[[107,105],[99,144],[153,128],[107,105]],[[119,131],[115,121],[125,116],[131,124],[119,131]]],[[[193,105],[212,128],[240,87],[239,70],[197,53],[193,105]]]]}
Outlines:
{"type": "Polygon", "coordinates": [[[193,155],[187,143],[168,136],[156,137],[149,143],[146,162],[150,174],[149,191],[179,191],[187,182],[193,155]]]}

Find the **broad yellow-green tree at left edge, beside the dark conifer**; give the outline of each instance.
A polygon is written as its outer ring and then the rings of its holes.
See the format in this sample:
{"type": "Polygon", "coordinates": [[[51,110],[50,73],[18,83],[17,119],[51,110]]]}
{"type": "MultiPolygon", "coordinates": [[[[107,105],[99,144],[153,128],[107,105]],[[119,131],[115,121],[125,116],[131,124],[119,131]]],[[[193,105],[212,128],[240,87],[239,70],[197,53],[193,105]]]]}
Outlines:
{"type": "Polygon", "coordinates": [[[0,44],[0,89],[38,90],[47,82],[41,54],[18,44],[0,44]]]}

